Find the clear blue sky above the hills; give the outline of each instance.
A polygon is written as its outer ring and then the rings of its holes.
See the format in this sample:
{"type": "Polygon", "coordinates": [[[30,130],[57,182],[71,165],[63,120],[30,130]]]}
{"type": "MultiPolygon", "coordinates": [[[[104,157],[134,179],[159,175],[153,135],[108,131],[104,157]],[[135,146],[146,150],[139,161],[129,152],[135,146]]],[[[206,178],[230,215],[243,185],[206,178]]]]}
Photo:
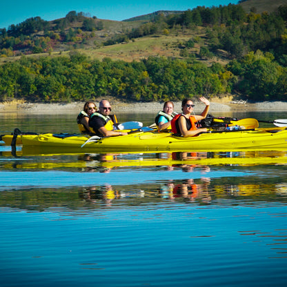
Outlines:
{"type": "Polygon", "coordinates": [[[0,28],[17,25],[31,17],[46,21],[63,18],[70,11],[84,12],[98,19],[122,21],[158,10],[192,10],[197,6],[237,4],[238,0],[14,0],[5,1],[0,10],[0,28]]]}

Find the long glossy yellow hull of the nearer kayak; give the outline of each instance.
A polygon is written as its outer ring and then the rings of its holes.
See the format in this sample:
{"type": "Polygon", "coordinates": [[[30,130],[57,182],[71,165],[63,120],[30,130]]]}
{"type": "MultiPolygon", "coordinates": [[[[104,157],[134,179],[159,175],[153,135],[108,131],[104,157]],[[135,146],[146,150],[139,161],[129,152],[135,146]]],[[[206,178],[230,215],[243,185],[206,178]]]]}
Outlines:
{"type": "Polygon", "coordinates": [[[287,150],[285,128],[261,128],[203,133],[197,137],[175,137],[168,132],[135,132],[121,137],[88,141],[86,135],[55,137],[52,134],[21,135],[23,147],[63,148],[81,152],[165,152],[226,150],[287,150]],[[83,144],[86,143],[84,146],[83,144]],[[81,146],[83,146],[81,148],[81,146]]]}

